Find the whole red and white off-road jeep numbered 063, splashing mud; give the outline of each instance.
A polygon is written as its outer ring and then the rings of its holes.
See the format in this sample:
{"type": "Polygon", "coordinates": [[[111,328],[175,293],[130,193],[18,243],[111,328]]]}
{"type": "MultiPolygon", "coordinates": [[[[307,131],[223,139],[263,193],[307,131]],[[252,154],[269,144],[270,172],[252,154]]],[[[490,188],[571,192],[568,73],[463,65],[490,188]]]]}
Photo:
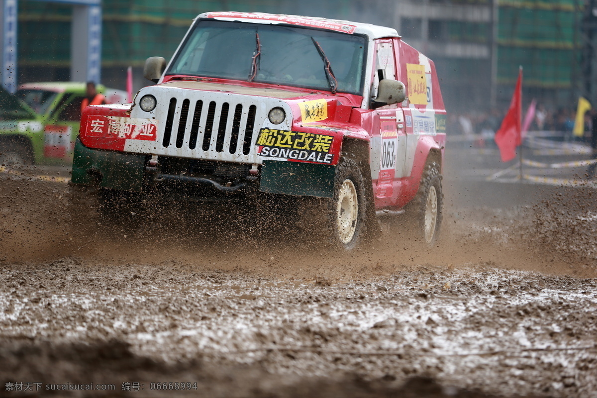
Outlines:
{"type": "Polygon", "coordinates": [[[206,13],[170,63],[149,58],[144,73],[157,84],[132,105],[85,109],[75,196],[87,188],[100,206],[114,195],[164,192],[168,200],[319,198],[309,213],[344,249],[358,245],[376,212],[405,208],[421,239],[435,242],[444,101],[433,62],[396,30],[206,13]]]}

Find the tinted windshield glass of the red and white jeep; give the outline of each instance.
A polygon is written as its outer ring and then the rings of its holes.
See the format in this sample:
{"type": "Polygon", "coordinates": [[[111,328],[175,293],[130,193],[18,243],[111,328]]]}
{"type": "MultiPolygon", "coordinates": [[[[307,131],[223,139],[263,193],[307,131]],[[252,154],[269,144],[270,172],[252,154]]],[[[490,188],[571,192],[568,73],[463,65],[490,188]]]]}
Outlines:
{"type": "Polygon", "coordinates": [[[167,75],[283,84],[361,94],[365,38],[340,32],[200,21],[167,75]],[[318,51],[321,47],[324,55],[318,51]],[[326,71],[326,60],[333,76],[326,71]],[[335,81],[334,81],[335,79],[335,81]]]}

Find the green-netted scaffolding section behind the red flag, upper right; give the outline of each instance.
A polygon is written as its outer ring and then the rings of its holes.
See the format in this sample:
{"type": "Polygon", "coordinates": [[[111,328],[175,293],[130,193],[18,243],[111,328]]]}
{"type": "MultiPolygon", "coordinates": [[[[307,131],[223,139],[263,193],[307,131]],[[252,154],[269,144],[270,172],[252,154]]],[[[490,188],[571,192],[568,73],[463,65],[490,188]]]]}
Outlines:
{"type": "Polygon", "coordinates": [[[581,0],[500,0],[497,33],[498,102],[506,104],[524,71],[523,97],[548,106],[569,103],[580,82],[581,0]],[[562,95],[565,92],[566,95],[562,95]]]}

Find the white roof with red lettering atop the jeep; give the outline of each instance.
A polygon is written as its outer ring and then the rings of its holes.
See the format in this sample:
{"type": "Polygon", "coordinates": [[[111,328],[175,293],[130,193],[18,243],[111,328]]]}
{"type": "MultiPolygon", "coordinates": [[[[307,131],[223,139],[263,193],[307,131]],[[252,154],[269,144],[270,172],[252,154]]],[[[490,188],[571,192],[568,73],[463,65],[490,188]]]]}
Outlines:
{"type": "Polygon", "coordinates": [[[204,13],[199,14],[197,18],[214,18],[225,21],[241,21],[251,23],[263,24],[279,24],[287,23],[297,26],[318,27],[320,29],[336,30],[343,33],[361,33],[370,38],[387,38],[400,37],[396,29],[385,26],[372,25],[370,23],[341,21],[336,19],[315,18],[315,17],[301,17],[281,14],[266,14],[266,13],[235,13],[235,12],[221,12],[221,13],[204,13]]]}

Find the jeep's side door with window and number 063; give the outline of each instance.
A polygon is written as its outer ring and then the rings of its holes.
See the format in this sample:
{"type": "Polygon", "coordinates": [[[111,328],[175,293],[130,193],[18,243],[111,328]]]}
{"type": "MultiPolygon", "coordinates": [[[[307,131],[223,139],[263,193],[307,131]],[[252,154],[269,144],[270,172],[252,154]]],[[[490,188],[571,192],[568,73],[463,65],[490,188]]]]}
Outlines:
{"type": "MultiPolygon", "coordinates": [[[[396,80],[394,45],[390,39],[376,41],[372,97],[381,80],[396,80]]],[[[381,105],[372,101],[371,180],[376,208],[394,206],[399,195],[400,174],[396,167],[404,157],[404,113],[400,104],[381,105]]]]}

